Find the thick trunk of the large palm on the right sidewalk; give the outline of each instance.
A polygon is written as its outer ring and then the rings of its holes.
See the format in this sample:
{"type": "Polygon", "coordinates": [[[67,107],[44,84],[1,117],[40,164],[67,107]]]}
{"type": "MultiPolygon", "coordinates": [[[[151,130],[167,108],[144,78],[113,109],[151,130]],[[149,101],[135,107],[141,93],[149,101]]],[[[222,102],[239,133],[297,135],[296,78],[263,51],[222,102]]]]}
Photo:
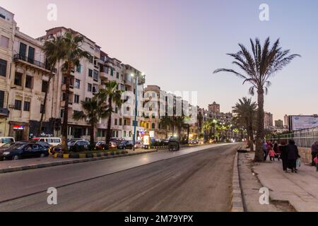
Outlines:
{"type": "Polygon", "coordinates": [[[256,141],[256,152],[255,162],[264,162],[264,154],[262,145],[264,142],[264,90],[259,89],[257,91],[257,141],[256,141]]]}

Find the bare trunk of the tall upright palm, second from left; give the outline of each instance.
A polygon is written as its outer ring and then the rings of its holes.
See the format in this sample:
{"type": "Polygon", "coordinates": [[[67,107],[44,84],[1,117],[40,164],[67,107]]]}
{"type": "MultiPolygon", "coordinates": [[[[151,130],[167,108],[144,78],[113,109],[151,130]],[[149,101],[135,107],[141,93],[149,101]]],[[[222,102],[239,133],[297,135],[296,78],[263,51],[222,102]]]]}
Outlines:
{"type": "Polygon", "coordinates": [[[71,68],[67,71],[66,75],[66,94],[65,94],[65,106],[64,106],[64,116],[63,116],[63,125],[62,125],[62,150],[64,153],[69,152],[69,148],[67,146],[67,133],[68,133],[68,123],[69,123],[69,85],[71,78],[71,68]]]}

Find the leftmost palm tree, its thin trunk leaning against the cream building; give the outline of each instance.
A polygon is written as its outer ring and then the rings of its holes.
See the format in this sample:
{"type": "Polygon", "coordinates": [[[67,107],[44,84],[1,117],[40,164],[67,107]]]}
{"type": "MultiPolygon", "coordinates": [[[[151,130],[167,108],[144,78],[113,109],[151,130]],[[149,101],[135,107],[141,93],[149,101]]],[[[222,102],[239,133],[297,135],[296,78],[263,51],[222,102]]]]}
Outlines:
{"type": "MultiPolygon", "coordinates": [[[[61,51],[62,47],[62,38],[61,37],[52,37],[51,40],[48,40],[43,45],[43,50],[45,52],[45,56],[47,57],[46,66],[47,69],[49,69],[49,81],[47,82],[49,85],[51,84],[51,80],[54,77],[54,71],[56,71],[55,66],[57,64],[57,61],[63,58],[64,52],[61,51]]],[[[40,125],[39,129],[37,131],[37,135],[40,136],[45,109],[47,106],[47,95],[49,92],[49,88],[45,90],[45,98],[43,100],[43,110],[41,113],[41,119],[40,119],[40,125]]]]}

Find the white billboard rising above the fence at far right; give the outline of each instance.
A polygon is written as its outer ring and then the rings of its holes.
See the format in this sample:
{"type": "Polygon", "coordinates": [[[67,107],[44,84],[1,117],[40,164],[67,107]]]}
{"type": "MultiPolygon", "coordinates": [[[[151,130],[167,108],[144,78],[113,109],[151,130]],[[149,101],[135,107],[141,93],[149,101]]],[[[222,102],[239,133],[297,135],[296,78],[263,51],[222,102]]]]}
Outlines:
{"type": "Polygon", "coordinates": [[[298,131],[302,129],[318,127],[318,117],[316,115],[312,115],[312,116],[294,115],[294,116],[290,116],[289,121],[290,121],[291,131],[298,131]]]}

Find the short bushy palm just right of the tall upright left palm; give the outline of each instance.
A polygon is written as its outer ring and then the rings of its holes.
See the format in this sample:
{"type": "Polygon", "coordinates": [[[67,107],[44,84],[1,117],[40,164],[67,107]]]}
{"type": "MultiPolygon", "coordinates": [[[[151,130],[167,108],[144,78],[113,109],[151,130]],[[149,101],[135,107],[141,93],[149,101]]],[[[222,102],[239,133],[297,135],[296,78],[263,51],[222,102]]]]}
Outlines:
{"type": "Polygon", "coordinates": [[[95,142],[95,125],[98,124],[100,118],[105,118],[109,116],[110,109],[105,106],[102,106],[102,103],[98,101],[98,98],[82,101],[81,106],[83,111],[74,112],[73,119],[77,121],[81,119],[86,119],[88,121],[88,124],[90,124],[90,145],[93,145],[95,142]]]}

